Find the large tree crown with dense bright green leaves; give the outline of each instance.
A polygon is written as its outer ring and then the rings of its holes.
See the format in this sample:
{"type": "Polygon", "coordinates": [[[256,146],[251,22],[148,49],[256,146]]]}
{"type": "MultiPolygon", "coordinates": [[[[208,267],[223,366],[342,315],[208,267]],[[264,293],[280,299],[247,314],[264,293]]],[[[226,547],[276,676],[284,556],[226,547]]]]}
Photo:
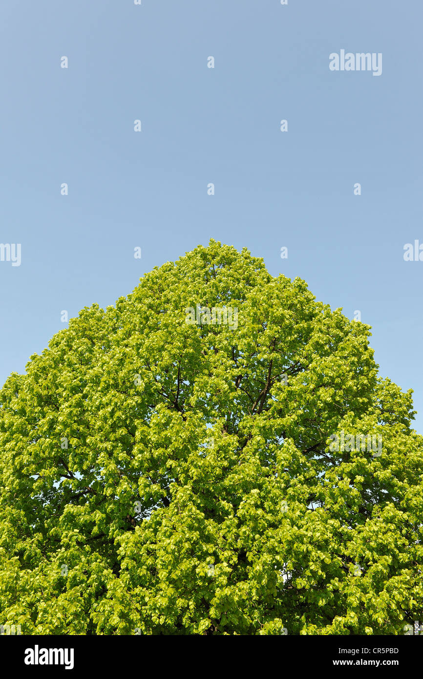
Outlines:
{"type": "Polygon", "coordinates": [[[84,308],[0,392],[0,622],[423,622],[422,437],[369,330],[214,240],[84,308]]]}

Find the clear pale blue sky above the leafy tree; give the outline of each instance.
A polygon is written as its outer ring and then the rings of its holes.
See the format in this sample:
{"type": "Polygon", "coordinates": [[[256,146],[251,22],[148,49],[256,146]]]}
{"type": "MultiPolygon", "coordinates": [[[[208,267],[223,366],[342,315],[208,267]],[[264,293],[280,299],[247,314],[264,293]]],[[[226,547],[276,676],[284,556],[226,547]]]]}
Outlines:
{"type": "Polygon", "coordinates": [[[215,238],[360,310],[423,411],[423,261],[403,260],[423,243],[422,26],[420,0],[3,0],[0,242],[22,262],[0,261],[1,384],[61,310],[215,238]],[[382,75],[330,71],[342,49],[382,53],[382,75]]]}

